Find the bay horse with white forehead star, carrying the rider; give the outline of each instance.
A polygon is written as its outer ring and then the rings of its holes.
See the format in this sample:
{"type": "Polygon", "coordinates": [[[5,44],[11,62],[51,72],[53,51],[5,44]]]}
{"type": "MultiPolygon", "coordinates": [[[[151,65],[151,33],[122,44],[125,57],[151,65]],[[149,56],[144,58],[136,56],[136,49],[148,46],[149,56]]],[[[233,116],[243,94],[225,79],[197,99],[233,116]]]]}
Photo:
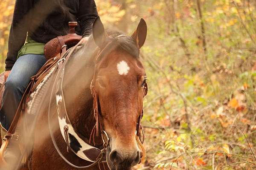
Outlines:
{"type": "MultiPolygon", "coordinates": [[[[126,36],[118,31],[105,31],[98,18],[93,23],[93,33],[89,40],[76,45],[65,66],[63,93],[70,122],[79,138],[89,143],[91,132],[95,130],[97,122],[93,104],[95,100],[98,102],[100,128],[104,129],[109,138],[106,161],[110,170],[131,170],[143,157],[136,133],[147,88],[145,69],[139,57],[146,34],[147,26],[143,19],[132,36],[126,36]],[[108,47],[106,44],[110,43],[111,47],[108,47]],[[91,94],[91,80],[97,94],[96,99],[91,94]]],[[[51,76],[54,75],[48,77],[51,76]]],[[[46,93],[42,90],[44,84],[39,87],[36,94],[31,96],[32,102],[27,103],[28,115],[29,111],[37,109],[37,98],[46,93]]],[[[67,145],[58,125],[60,117],[55,114],[58,110],[56,99],[50,97],[49,91],[47,93],[46,98],[39,101],[43,102],[44,106],[37,113],[31,156],[32,170],[76,169],[59,156],[50,136],[51,131],[66,159],[78,166],[90,164],[73,152],[67,152],[67,145]],[[48,126],[48,108],[52,115],[52,129],[48,126]]],[[[73,137],[74,140],[70,139],[71,144],[79,144],[76,136],[73,137]]],[[[102,149],[103,142],[100,136],[95,137],[93,141],[95,147],[102,149]]],[[[84,170],[99,170],[99,167],[84,170]]]]}

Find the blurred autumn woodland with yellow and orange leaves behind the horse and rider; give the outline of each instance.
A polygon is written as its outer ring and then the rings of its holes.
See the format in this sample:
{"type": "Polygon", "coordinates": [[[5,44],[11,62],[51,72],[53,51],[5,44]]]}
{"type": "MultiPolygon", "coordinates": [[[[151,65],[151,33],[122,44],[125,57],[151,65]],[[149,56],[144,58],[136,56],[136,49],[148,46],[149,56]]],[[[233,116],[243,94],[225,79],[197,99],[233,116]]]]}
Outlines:
{"type": "MultiPolygon", "coordinates": [[[[0,71],[15,0],[0,0],[0,71]]],[[[147,156],[136,170],[256,169],[256,1],[96,0],[107,28],[148,25],[147,156]]]]}

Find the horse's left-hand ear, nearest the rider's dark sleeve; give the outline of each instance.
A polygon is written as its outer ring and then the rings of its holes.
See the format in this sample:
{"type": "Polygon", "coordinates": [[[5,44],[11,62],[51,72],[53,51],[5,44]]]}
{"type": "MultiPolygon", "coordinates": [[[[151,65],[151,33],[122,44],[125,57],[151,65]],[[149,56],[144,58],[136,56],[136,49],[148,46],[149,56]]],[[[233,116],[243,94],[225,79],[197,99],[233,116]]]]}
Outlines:
{"type": "Polygon", "coordinates": [[[93,22],[93,39],[96,45],[100,47],[106,39],[106,33],[102,21],[99,17],[93,22]]]}

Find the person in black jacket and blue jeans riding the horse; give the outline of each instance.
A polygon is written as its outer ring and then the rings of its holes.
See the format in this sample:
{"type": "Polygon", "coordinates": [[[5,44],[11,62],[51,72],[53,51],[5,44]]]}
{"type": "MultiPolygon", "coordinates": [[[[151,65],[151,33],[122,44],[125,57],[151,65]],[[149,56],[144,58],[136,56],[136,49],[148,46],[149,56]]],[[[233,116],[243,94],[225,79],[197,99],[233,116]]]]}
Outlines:
{"type": "MultiPolygon", "coordinates": [[[[0,109],[1,137],[7,133],[29,83],[46,62],[44,45],[68,33],[69,21],[77,21],[76,33],[85,42],[98,17],[94,0],[16,0],[9,34],[9,51],[4,72],[5,91],[0,109]]],[[[9,144],[4,159],[17,159],[15,146],[9,144]]]]}

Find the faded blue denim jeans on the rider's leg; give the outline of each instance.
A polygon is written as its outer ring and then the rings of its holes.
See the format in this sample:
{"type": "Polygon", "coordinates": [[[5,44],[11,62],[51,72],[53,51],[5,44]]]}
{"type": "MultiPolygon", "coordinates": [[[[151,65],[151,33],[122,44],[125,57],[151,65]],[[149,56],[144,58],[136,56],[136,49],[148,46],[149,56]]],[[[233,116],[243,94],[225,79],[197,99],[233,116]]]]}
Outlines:
{"type": "Polygon", "coordinates": [[[2,108],[0,109],[0,122],[6,130],[9,130],[30,77],[37,74],[46,61],[44,55],[25,54],[20,56],[13,65],[5,82],[2,108]]]}

